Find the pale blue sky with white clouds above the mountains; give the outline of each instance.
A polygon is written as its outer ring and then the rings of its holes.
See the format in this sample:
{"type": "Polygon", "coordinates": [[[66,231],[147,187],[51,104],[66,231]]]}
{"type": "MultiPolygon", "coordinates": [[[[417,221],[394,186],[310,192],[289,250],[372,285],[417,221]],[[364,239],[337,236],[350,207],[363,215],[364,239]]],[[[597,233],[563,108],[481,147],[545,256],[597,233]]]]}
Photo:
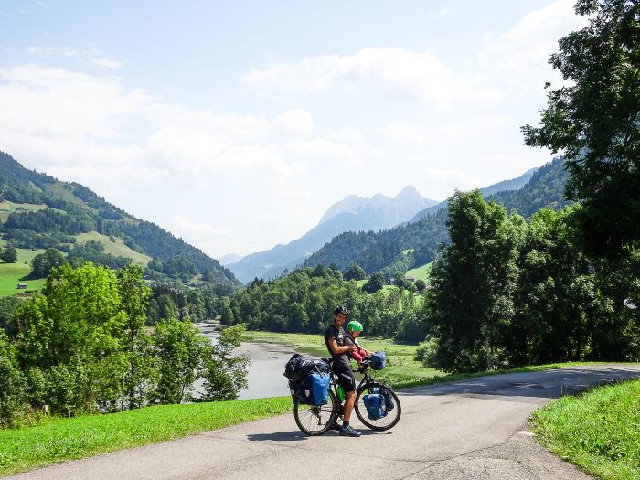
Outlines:
{"type": "Polygon", "coordinates": [[[523,145],[573,1],[0,0],[0,150],[214,258],[348,195],[443,200],[523,145]]]}

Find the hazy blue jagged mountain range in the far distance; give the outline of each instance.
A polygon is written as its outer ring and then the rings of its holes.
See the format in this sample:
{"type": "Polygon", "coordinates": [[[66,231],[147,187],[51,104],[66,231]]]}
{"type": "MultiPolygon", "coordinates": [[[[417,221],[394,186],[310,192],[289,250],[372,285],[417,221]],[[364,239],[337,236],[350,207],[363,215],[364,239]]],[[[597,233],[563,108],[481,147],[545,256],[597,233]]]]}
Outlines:
{"type": "Polygon", "coordinates": [[[382,194],[361,198],[351,195],[330,207],[318,225],[299,239],[271,250],[251,253],[227,267],[242,282],[255,277],[273,278],[293,269],[336,235],[350,230],[389,229],[411,219],[416,212],[436,202],[421,197],[415,187],[404,187],[394,197],[382,194]]]}

